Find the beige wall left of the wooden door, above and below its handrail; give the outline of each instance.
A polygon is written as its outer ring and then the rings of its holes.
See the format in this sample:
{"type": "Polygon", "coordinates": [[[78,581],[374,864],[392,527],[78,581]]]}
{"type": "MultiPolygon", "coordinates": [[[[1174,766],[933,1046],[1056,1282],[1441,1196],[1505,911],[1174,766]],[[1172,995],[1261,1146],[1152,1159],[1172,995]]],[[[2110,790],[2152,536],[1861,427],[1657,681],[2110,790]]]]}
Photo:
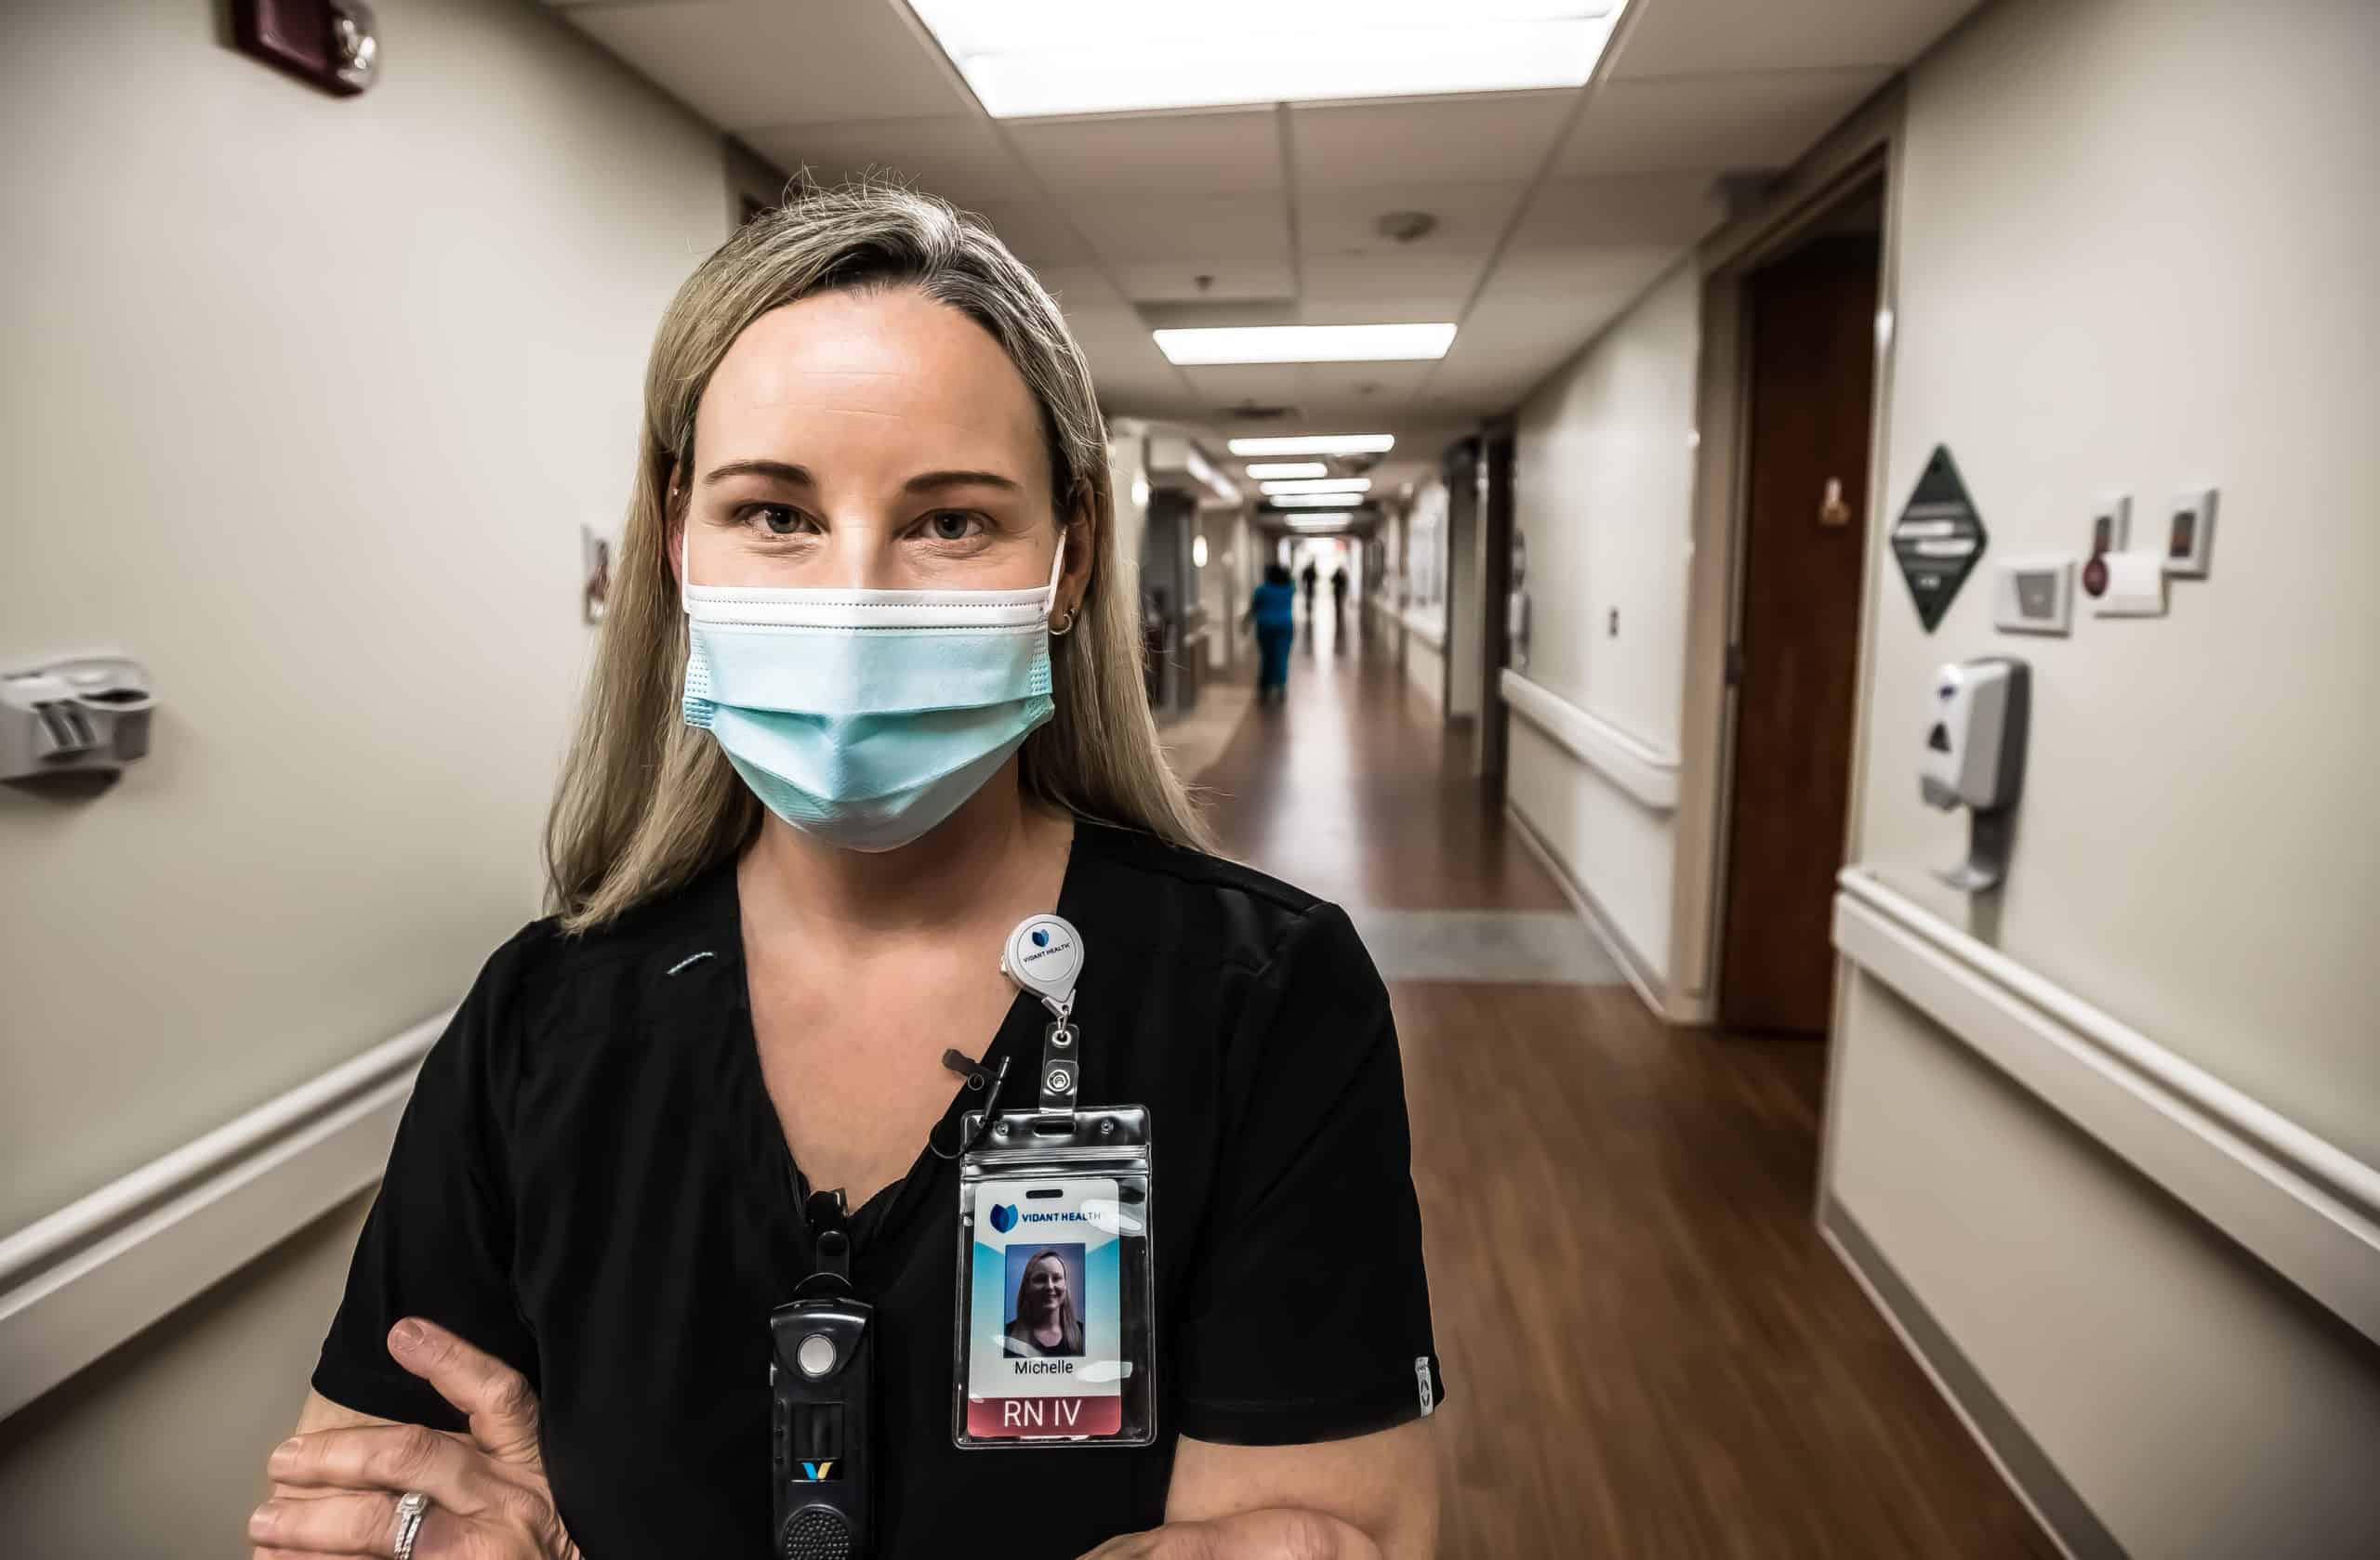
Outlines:
{"type": "MultiPolygon", "coordinates": [[[[1678,751],[1695,497],[1702,278],[1683,264],[1521,407],[1514,516],[1528,537],[1533,682],[1678,751]],[[1609,630],[1618,611],[1618,633],[1609,630]]],[[[1507,792],[1652,975],[1668,970],[1668,813],[1511,716],[1507,792]]]]}

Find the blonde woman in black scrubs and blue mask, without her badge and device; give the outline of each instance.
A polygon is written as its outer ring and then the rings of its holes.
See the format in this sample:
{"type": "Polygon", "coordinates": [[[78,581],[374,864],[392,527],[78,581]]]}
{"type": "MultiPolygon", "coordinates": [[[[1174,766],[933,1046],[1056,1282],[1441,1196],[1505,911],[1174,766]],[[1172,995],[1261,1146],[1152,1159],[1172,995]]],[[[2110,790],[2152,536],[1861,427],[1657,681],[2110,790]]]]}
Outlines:
{"type": "Polygon", "coordinates": [[[766,1322],[823,1189],[876,1308],[876,1555],[978,1553],[988,1510],[1035,1555],[1430,1553],[1388,996],[1345,913],[1207,854],[1138,640],[1090,376],[981,221],[840,190],[695,271],[552,916],[421,1068],[259,1553],[774,1553],[766,1322]],[[940,1146],[983,1099],[942,1053],[1035,1070],[1000,949],[1052,908],[1081,1096],[1157,1141],[1157,1441],[962,1451],[940,1146]]]}

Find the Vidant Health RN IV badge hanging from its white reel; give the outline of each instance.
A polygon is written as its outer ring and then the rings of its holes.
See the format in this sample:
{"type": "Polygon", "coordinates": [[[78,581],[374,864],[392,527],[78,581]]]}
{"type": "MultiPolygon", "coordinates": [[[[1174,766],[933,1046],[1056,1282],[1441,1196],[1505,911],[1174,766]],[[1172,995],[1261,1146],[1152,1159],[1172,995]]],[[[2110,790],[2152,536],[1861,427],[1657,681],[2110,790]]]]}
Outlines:
{"type": "MultiPolygon", "coordinates": [[[[1147,1446],[1157,1439],[1150,1113],[1078,1106],[1083,935],[1009,932],[1000,970],[1050,1008],[1040,1103],[962,1122],[952,1439],[1147,1446]]],[[[997,1101],[992,1101],[997,1106],[997,1101]]]]}

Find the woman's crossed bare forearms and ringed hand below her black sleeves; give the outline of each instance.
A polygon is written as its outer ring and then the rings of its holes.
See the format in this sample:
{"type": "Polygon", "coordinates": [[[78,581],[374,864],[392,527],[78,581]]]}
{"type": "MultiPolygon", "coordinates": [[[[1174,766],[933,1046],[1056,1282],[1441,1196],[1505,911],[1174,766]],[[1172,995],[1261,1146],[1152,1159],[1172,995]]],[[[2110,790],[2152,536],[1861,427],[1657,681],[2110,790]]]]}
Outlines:
{"type": "MultiPolygon", "coordinates": [[[[388,1353],[471,1429],[393,1424],[309,1394],[298,1434],[267,1460],[274,1493],[248,1527],[257,1560],[388,1555],[407,1489],[436,1503],[414,1560],[583,1560],[555,1510],[521,1372],[428,1322],[397,1322],[388,1353]]],[[[1166,1524],[1085,1560],[1426,1560],[1435,1541],[1438,1482],[1414,1422],[1316,1446],[1185,1439],[1166,1524]]]]}

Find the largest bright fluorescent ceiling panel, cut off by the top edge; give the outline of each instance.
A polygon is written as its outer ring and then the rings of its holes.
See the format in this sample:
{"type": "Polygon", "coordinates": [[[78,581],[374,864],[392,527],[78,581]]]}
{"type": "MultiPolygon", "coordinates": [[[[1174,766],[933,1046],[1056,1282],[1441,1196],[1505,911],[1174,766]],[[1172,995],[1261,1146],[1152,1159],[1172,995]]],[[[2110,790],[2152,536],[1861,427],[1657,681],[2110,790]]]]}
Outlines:
{"type": "Polygon", "coordinates": [[[1576,88],[1623,0],[909,0],[992,119],[1576,88]]]}

